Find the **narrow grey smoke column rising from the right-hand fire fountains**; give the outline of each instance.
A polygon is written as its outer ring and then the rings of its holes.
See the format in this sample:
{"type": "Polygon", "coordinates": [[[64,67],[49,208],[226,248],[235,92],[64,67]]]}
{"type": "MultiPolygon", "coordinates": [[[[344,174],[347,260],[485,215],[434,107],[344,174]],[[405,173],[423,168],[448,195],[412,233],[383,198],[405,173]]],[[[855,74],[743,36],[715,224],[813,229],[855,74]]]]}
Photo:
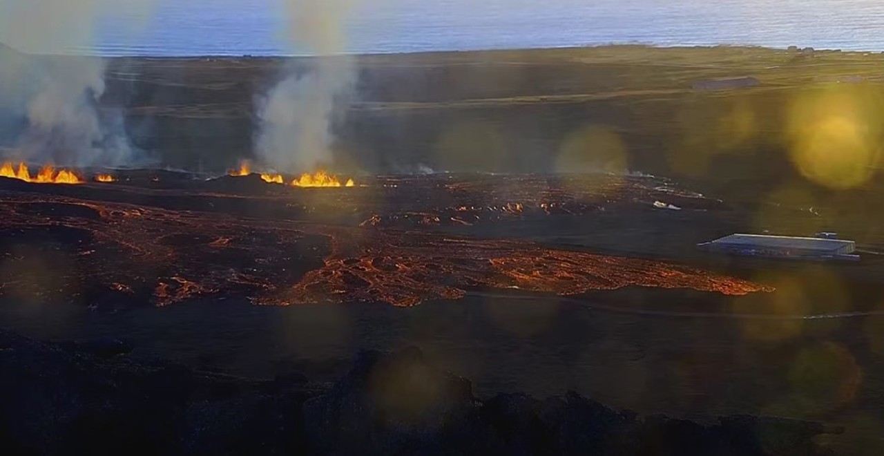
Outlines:
{"type": "Polygon", "coordinates": [[[288,69],[258,101],[255,153],[277,171],[311,171],[331,163],[335,108],[356,80],[347,51],[347,19],[356,0],[286,0],[286,38],[295,53],[318,56],[309,68],[288,69]],[[334,57],[330,57],[334,56],[334,57]]]}

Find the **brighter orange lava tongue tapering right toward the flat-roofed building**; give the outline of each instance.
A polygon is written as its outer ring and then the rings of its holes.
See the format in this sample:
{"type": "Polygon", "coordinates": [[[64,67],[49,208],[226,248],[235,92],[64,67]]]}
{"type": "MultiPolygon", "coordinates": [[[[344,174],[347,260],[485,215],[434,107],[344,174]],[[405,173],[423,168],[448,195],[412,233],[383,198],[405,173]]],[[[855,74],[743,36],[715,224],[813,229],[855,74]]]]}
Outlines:
{"type": "Polygon", "coordinates": [[[571,252],[522,241],[457,239],[423,232],[354,232],[302,226],[331,239],[324,267],[258,304],[386,302],[409,307],[454,300],[469,288],[518,288],[562,296],[628,286],[685,288],[725,295],[772,288],[703,270],[637,258],[571,252]]]}

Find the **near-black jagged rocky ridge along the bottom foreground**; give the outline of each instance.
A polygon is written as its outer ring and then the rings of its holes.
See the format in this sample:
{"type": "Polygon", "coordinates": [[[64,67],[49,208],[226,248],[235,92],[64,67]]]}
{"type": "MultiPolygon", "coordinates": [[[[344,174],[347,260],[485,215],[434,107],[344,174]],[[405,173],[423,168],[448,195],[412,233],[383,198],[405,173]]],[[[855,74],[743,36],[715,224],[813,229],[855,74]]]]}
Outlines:
{"type": "Polygon", "coordinates": [[[815,455],[814,422],[640,418],[569,392],[476,399],[409,348],[362,353],[331,388],[130,359],[115,340],[0,331],[0,453],[815,455]]]}

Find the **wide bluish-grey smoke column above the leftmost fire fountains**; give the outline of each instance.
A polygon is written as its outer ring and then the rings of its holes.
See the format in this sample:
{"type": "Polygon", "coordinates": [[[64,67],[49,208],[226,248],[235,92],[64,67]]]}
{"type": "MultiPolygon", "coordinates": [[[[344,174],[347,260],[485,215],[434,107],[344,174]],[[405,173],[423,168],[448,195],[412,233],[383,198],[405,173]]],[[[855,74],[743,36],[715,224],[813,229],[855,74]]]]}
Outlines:
{"type": "Polygon", "coordinates": [[[143,13],[151,3],[0,0],[0,42],[30,54],[0,51],[0,125],[24,124],[0,130],[6,158],[103,166],[133,159],[122,118],[98,108],[104,60],[61,55],[90,49],[102,17],[143,13]]]}

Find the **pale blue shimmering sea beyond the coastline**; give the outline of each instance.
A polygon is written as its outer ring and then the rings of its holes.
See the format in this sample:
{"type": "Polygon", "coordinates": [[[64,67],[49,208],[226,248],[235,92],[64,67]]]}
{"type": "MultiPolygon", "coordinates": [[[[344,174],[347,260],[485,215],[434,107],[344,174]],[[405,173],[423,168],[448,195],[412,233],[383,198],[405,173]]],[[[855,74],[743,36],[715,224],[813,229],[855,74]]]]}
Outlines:
{"type": "MultiPolygon", "coordinates": [[[[297,8],[286,14],[292,10],[286,10],[285,4],[286,0],[153,0],[149,7],[132,11],[118,7],[96,21],[92,42],[69,50],[103,56],[316,53],[289,39],[292,15],[295,23],[303,18],[297,18],[297,8]]],[[[308,22],[330,35],[340,26],[336,53],[612,43],[884,51],[880,0],[329,0],[327,4],[335,8],[331,14],[308,22]]]]}

